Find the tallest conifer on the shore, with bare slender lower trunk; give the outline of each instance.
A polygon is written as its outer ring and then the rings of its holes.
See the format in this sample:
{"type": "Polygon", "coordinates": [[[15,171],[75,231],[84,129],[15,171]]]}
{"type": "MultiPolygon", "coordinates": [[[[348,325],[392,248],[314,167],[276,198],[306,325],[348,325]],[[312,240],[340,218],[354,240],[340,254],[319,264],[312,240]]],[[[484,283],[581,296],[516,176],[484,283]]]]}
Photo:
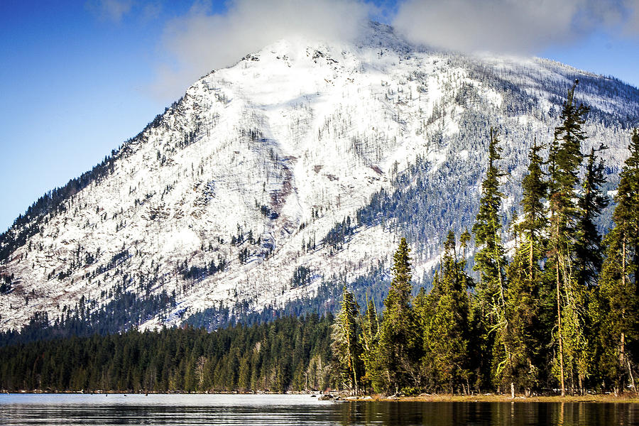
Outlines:
{"type": "Polygon", "coordinates": [[[566,393],[566,378],[574,389],[577,376],[579,390],[583,391],[583,381],[587,372],[584,306],[585,289],[579,288],[575,274],[575,235],[579,218],[577,185],[579,166],[583,159],[581,144],[586,134],[581,129],[584,116],[589,111],[583,104],[574,103],[575,80],[564,102],[560,120],[555,129],[555,138],[550,147],[550,268],[555,280],[557,295],[557,357],[556,375],[566,393]]]}

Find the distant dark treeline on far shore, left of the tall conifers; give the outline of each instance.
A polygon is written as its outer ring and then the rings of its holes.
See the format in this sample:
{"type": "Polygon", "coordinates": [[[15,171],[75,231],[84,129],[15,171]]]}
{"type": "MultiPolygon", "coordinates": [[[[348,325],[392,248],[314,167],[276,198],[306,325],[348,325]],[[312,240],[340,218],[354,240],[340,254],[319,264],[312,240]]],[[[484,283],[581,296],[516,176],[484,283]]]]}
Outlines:
{"type": "Polygon", "coordinates": [[[331,315],[0,348],[6,391],[310,391],[331,386],[331,315]]]}

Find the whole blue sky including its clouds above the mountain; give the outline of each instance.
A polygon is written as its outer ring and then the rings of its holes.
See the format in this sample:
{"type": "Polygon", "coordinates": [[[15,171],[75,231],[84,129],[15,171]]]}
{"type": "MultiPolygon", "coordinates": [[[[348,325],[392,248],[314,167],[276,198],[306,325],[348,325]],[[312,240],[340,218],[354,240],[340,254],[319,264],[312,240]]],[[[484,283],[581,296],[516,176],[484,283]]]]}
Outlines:
{"type": "Polygon", "coordinates": [[[638,0],[550,3],[1,0],[0,232],[135,136],[198,76],[286,31],[348,37],[372,17],[417,42],[537,55],[639,86],[638,0]]]}

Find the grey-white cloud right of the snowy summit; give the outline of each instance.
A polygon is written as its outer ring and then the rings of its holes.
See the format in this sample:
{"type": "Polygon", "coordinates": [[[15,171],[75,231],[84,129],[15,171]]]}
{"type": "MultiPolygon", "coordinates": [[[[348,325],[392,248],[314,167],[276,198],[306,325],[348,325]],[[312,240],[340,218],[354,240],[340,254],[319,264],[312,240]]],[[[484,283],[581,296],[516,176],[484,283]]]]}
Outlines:
{"type": "Polygon", "coordinates": [[[438,48],[539,53],[593,31],[639,31],[639,0],[406,0],[393,26],[438,48]]]}

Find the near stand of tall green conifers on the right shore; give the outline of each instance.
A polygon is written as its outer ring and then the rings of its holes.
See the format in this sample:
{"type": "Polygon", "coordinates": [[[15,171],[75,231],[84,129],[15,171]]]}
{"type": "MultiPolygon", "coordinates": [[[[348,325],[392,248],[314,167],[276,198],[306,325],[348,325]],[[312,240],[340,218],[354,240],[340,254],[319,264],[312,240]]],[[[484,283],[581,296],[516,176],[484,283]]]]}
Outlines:
{"type": "Polygon", "coordinates": [[[359,313],[344,289],[333,329],[344,388],[384,393],[507,391],[584,394],[637,392],[639,354],[639,131],[614,197],[605,239],[596,218],[603,191],[600,146],[581,153],[589,109],[564,102],[547,159],[532,144],[520,214],[503,230],[498,135],[490,132],[488,168],[472,234],[449,231],[432,290],[413,296],[410,249],[402,239],[383,315],[359,313]],[[474,240],[474,241],[472,241],[474,240]],[[514,241],[513,241],[514,240],[514,241]],[[474,271],[466,258],[474,242],[474,271]]]}

